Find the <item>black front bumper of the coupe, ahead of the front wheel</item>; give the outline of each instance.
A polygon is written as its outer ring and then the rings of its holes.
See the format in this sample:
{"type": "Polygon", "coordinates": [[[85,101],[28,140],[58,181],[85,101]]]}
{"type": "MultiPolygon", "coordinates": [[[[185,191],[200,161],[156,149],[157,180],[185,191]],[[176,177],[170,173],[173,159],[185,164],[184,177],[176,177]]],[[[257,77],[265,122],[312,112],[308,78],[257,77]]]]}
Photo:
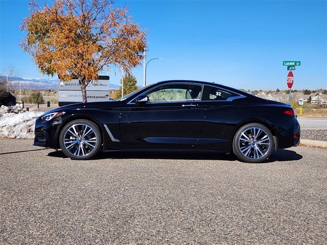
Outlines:
{"type": "Polygon", "coordinates": [[[35,121],[35,137],[33,145],[57,149],[59,147],[58,133],[61,125],[62,121],[60,117],[50,121],[37,118],[35,121]]]}

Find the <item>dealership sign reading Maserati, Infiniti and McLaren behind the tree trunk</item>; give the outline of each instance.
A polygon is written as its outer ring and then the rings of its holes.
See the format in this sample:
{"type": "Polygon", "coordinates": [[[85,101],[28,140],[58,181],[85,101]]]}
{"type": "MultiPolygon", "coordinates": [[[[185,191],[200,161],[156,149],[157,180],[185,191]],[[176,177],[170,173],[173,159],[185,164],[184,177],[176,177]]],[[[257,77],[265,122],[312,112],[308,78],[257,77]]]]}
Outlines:
{"type": "MultiPolygon", "coordinates": [[[[109,101],[109,76],[99,76],[97,82],[91,81],[86,87],[87,102],[109,101]]],[[[59,106],[83,102],[78,79],[69,82],[59,81],[59,106]]]]}

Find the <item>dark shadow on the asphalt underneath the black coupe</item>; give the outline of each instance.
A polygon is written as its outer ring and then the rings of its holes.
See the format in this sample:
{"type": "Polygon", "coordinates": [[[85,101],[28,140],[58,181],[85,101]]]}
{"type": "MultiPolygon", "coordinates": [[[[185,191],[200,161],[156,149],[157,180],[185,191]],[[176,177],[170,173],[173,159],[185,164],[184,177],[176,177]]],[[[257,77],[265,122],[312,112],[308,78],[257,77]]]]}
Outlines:
{"type": "MultiPolygon", "coordinates": [[[[67,158],[62,151],[50,152],[48,156],[67,158]]],[[[274,151],[263,163],[275,161],[296,161],[302,156],[294,151],[274,151]]],[[[236,161],[234,154],[217,153],[214,151],[114,151],[99,153],[92,159],[172,159],[172,160],[223,160],[236,161]]]]}

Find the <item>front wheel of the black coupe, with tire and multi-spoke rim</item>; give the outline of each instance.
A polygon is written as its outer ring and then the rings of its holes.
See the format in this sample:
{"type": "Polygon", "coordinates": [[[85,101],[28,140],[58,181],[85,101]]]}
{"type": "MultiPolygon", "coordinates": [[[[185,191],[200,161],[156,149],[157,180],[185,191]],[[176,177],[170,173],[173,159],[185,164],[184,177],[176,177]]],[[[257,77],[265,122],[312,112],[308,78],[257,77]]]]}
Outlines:
{"type": "Polygon", "coordinates": [[[99,127],[89,120],[78,119],[68,122],[59,136],[62,152],[74,160],[87,160],[96,156],[101,147],[99,127]]]}

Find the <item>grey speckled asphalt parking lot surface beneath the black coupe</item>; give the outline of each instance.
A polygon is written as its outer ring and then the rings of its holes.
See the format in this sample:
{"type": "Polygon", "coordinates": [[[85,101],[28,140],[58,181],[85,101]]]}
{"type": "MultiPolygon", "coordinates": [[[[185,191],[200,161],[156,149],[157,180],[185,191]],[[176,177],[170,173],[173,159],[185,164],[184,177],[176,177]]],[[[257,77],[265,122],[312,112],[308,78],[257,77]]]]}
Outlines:
{"type": "Polygon", "coordinates": [[[73,161],[0,139],[0,244],[325,244],[327,150],[73,161]]]}

